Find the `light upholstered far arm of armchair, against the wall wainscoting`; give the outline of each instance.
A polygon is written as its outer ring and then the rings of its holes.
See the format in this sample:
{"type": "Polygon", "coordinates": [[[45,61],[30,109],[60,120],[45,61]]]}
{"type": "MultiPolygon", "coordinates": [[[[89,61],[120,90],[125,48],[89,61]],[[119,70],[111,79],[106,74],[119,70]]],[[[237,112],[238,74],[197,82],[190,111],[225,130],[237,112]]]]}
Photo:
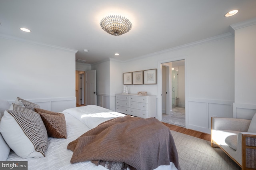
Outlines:
{"type": "Polygon", "coordinates": [[[212,130],[235,130],[239,132],[247,132],[251,120],[212,117],[212,130]]]}

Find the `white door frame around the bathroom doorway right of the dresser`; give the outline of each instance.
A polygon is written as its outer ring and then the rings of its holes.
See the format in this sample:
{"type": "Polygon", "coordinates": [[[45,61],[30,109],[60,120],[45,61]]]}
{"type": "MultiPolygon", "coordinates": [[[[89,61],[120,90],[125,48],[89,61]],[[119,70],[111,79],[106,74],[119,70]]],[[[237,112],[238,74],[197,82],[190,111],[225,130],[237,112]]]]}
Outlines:
{"type": "Polygon", "coordinates": [[[188,56],[181,56],[171,59],[166,59],[162,61],[158,61],[158,110],[156,118],[159,121],[162,121],[162,65],[164,63],[170,63],[173,61],[179,61],[184,60],[185,61],[185,117],[186,117],[186,128],[188,127],[189,122],[189,115],[188,115],[188,56]]]}

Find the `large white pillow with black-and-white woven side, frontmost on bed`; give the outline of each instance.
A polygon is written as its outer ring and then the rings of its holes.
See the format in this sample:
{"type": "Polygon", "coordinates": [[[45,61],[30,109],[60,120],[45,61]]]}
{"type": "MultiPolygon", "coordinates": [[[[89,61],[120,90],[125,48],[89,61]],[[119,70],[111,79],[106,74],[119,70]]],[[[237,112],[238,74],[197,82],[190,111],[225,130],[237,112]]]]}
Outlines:
{"type": "Polygon", "coordinates": [[[0,132],[6,143],[22,158],[44,157],[48,145],[47,131],[40,115],[13,104],[0,122],[0,132]]]}

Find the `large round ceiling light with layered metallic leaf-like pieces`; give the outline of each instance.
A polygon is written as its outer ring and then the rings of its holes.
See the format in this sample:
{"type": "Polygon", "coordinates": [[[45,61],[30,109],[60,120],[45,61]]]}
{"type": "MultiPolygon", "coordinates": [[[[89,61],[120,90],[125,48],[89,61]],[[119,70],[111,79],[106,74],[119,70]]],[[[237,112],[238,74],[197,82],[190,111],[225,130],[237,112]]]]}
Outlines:
{"type": "Polygon", "coordinates": [[[132,22],[122,16],[106,16],[100,21],[100,27],[113,36],[120,36],[132,29],[132,22]]]}

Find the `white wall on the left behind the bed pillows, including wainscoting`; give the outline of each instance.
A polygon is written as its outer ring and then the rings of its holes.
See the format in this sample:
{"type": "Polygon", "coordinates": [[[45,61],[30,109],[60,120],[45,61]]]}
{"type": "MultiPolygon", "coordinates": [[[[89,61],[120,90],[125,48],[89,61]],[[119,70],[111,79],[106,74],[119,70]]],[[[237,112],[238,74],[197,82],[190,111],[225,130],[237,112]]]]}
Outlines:
{"type": "Polygon", "coordinates": [[[0,98],[11,103],[21,97],[59,112],[75,107],[75,53],[0,37],[0,98]]]}

